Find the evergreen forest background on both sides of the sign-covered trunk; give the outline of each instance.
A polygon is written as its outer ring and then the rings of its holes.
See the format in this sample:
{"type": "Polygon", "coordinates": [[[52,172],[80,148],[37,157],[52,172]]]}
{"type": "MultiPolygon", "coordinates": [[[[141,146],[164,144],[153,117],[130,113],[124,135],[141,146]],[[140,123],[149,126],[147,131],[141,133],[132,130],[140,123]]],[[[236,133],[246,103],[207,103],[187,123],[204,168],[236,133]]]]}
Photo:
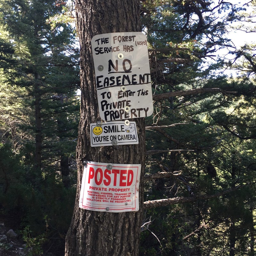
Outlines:
{"type": "MultiPolygon", "coordinates": [[[[144,201],[160,201],[144,205],[140,255],[255,254],[255,44],[229,37],[254,37],[255,8],[141,1],[154,100],[144,201]]],[[[73,2],[0,0],[0,216],[42,247],[31,255],[64,254],[74,207],[73,12],[73,2]]]]}

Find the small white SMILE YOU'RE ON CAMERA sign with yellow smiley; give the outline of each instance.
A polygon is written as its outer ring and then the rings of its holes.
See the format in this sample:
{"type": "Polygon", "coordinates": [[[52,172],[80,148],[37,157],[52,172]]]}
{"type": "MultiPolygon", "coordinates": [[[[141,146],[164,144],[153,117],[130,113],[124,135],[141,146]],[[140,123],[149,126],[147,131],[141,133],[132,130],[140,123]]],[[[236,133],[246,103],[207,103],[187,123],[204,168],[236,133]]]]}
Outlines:
{"type": "Polygon", "coordinates": [[[135,122],[125,125],[124,121],[114,121],[101,124],[90,125],[91,146],[113,146],[138,144],[138,134],[135,122]]]}

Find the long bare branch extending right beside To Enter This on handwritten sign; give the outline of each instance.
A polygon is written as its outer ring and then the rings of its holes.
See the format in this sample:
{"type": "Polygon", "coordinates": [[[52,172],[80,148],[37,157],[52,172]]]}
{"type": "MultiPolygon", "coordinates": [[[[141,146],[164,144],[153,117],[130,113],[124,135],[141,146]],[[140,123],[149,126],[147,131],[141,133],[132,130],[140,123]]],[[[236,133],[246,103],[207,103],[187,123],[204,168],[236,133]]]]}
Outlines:
{"type": "Polygon", "coordinates": [[[175,96],[186,96],[186,95],[194,95],[198,93],[207,93],[207,92],[221,92],[222,94],[237,94],[237,92],[226,92],[220,88],[198,88],[198,89],[191,89],[186,91],[176,91],[176,92],[166,92],[161,94],[153,95],[153,100],[163,100],[168,99],[170,97],[175,96]]]}

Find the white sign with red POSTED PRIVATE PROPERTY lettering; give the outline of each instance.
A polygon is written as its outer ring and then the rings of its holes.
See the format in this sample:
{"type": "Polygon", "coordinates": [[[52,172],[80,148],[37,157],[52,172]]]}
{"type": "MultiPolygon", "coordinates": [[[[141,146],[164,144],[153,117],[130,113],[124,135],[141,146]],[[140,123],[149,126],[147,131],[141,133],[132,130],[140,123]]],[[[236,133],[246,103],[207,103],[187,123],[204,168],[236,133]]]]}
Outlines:
{"type": "Polygon", "coordinates": [[[140,164],[88,162],[79,207],[98,212],[138,211],[140,168],[140,164]]]}

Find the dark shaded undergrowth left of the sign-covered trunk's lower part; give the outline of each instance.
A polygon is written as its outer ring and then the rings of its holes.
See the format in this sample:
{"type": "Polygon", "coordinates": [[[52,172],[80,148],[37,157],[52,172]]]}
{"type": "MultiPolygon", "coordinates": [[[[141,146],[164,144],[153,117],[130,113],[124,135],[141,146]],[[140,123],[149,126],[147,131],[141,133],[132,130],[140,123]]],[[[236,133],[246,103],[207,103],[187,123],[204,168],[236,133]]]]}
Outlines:
{"type": "Polygon", "coordinates": [[[75,187],[65,188],[56,174],[38,173],[35,168],[22,164],[22,156],[13,154],[10,145],[0,147],[0,205],[5,215],[15,215],[20,227],[29,226],[34,235],[45,229],[47,215],[49,236],[60,236],[67,232],[76,193],[75,187]],[[57,230],[57,234],[56,234],[57,230]]]}

